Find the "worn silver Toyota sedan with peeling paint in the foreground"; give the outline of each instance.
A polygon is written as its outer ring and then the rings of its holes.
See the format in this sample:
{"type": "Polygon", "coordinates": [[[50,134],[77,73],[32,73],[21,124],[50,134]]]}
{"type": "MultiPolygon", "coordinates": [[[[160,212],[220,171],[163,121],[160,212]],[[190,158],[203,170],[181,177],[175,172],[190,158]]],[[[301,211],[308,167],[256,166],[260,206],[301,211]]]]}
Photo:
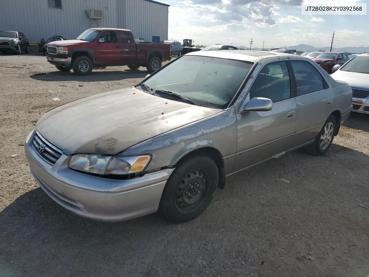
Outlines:
{"type": "Polygon", "coordinates": [[[50,110],[25,141],[35,180],[77,215],[117,222],[199,216],[225,179],[305,147],[322,155],[352,90],[306,57],[200,51],[134,87],[50,110]]]}

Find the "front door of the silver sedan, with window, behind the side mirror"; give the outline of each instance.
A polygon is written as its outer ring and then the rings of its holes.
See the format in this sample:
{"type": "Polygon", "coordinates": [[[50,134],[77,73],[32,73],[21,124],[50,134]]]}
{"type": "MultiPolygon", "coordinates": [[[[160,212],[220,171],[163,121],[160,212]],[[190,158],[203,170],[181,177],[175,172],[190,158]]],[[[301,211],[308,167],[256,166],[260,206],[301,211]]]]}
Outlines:
{"type": "Polygon", "coordinates": [[[286,62],[263,66],[244,101],[254,97],[271,99],[272,110],[238,114],[235,171],[283,154],[296,131],[297,103],[286,62]]]}

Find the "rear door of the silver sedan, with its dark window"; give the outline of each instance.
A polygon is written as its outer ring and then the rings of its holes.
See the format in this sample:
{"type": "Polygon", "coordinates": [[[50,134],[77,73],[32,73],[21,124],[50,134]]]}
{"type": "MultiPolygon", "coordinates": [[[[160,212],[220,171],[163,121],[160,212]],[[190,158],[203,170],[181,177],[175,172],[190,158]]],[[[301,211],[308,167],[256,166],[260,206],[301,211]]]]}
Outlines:
{"type": "Polygon", "coordinates": [[[314,140],[332,113],[333,90],[309,62],[291,61],[296,80],[297,124],[294,146],[314,140]]]}

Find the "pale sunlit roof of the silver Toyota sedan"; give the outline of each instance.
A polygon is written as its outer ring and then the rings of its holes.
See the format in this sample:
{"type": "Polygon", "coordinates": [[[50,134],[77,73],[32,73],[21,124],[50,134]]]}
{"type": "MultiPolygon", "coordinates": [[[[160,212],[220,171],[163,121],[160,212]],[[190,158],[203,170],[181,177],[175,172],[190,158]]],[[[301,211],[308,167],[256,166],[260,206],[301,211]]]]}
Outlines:
{"type": "MultiPolygon", "coordinates": [[[[239,61],[258,62],[263,59],[273,57],[291,57],[292,54],[279,53],[279,52],[267,52],[267,51],[255,51],[255,50],[219,50],[219,51],[197,51],[190,52],[187,55],[191,56],[205,56],[214,58],[226,58],[236,59],[239,61]]],[[[294,55],[295,56],[295,55],[294,55]]],[[[300,57],[300,56],[299,56],[300,57]]],[[[304,57],[301,57],[304,58],[304,57]]],[[[308,59],[308,58],[304,58],[308,59]]]]}

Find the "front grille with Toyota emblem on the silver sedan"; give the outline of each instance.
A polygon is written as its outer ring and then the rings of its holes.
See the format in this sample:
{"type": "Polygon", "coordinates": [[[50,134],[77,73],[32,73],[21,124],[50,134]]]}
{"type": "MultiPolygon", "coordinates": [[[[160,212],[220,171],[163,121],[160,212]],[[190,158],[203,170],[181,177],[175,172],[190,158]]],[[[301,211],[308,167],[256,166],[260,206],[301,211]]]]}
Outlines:
{"type": "Polygon", "coordinates": [[[51,165],[54,165],[63,154],[62,150],[45,140],[38,131],[35,132],[32,138],[32,147],[44,161],[51,165]]]}

